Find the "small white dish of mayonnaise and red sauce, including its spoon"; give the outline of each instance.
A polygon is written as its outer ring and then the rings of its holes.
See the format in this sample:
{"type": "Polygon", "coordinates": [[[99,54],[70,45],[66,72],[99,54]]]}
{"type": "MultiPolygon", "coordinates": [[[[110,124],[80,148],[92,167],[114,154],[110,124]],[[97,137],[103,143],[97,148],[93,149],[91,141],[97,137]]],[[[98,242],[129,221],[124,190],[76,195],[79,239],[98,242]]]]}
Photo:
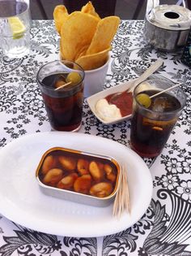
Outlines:
{"type": "Polygon", "coordinates": [[[159,69],[162,64],[163,61],[158,59],[155,63],[151,64],[151,66],[148,67],[146,71],[143,72],[142,75],[137,79],[106,89],[100,93],[96,93],[90,98],[87,98],[87,103],[90,106],[91,111],[94,113],[94,115],[96,115],[97,119],[99,119],[104,124],[116,124],[124,121],[125,119],[129,119],[133,111],[133,100],[132,98],[126,98],[126,92],[133,92],[135,85],[145,81],[149,76],[151,76],[151,74],[159,69]],[[105,99],[108,95],[111,94],[113,94],[112,97],[105,99]],[[100,102],[100,99],[105,99],[105,101],[100,102]],[[118,100],[120,100],[120,102],[117,102],[118,100]],[[98,101],[99,106],[96,105],[98,101]],[[112,102],[115,102],[117,106],[115,106],[115,104],[113,105],[112,102]],[[99,110],[98,108],[96,109],[96,106],[98,106],[99,110]],[[131,107],[131,109],[129,109],[129,107],[131,107]]]}

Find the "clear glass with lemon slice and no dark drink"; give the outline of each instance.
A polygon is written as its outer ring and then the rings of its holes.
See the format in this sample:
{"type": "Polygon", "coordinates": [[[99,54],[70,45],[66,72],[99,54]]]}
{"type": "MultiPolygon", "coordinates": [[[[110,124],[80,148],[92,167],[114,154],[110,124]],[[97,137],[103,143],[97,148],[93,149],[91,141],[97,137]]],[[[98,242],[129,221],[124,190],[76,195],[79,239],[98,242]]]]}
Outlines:
{"type": "Polygon", "coordinates": [[[9,58],[21,58],[30,50],[31,15],[28,2],[0,0],[0,47],[9,58]]]}

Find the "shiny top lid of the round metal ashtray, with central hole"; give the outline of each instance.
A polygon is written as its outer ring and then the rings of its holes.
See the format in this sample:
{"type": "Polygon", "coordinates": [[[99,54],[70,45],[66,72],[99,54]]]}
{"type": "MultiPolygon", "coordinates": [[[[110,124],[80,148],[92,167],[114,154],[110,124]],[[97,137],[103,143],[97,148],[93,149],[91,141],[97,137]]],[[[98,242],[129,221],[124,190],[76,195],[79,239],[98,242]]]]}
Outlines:
{"type": "Polygon", "coordinates": [[[176,5],[154,7],[146,18],[151,24],[168,30],[187,30],[191,26],[191,11],[176,5]]]}

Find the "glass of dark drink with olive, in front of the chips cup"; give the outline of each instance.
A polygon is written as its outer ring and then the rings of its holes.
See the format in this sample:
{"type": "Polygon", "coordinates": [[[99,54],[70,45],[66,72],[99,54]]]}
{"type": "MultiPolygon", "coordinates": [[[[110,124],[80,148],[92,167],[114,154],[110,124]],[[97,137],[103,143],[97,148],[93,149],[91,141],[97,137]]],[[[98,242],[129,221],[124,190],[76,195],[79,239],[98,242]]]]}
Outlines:
{"type": "Polygon", "coordinates": [[[83,116],[83,68],[55,60],[40,67],[36,78],[53,130],[78,131],[83,116]]]}

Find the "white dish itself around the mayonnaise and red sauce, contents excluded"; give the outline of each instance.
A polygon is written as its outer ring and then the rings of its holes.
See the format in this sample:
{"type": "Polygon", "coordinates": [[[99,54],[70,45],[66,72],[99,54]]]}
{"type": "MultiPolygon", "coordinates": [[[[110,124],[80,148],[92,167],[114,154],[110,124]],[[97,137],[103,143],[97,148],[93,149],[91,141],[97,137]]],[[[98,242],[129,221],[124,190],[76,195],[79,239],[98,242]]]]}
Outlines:
{"type": "Polygon", "coordinates": [[[101,119],[99,115],[97,115],[95,106],[96,106],[96,102],[98,102],[102,98],[107,97],[109,94],[120,93],[120,92],[125,91],[125,89],[129,89],[129,87],[131,87],[134,84],[134,81],[135,80],[131,80],[131,81],[122,83],[120,85],[113,86],[109,89],[104,89],[100,93],[96,93],[96,94],[92,95],[91,97],[87,98],[87,103],[90,106],[91,111],[93,112],[94,115],[96,115],[96,118],[99,119],[100,122],[102,122],[103,124],[117,124],[117,123],[124,121],[125,119],[131,118],[132,115],[125,115],[125,116],[121,117],[120,119],[115,119],[113,121],[105,121],[105,120],[101,119]]]}

